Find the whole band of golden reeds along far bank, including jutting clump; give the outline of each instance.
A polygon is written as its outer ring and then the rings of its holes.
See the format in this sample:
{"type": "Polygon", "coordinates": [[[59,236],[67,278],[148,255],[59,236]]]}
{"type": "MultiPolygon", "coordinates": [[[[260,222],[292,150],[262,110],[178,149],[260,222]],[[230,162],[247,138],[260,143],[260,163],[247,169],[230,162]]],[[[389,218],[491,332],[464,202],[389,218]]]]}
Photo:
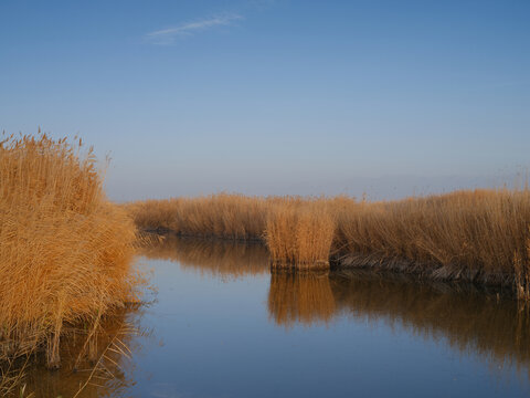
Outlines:
{"type": "Polygon", "coordinates": [[[529,297],[528,189],[380,202],[222,193],[125,207],[145,230],[259,240],[279,268],[326,268],[331,261],[510,285],[520,297],[529,297]]]}

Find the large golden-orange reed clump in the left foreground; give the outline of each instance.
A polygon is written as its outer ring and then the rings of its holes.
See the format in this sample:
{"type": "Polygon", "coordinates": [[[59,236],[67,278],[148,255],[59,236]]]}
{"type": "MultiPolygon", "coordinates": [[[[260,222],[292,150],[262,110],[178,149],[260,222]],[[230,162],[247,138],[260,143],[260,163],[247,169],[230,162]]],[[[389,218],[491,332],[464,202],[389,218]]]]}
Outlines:
{"type": "Polygon", "coordinates": [[[0,143],[0,360],[60,362],[65,325],[135,301],[136,229],[109,202],[92,148],[46,135],[0,143]]]}

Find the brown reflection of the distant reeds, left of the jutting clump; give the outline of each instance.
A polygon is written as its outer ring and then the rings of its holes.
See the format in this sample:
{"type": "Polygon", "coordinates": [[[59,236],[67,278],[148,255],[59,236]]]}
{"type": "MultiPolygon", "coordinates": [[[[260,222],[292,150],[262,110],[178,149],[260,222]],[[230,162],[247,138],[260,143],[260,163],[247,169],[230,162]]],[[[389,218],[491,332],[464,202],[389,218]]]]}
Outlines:
{"type": "Polygon", "coordinates": [[[184,269],[221,277],[265,274],[269,269],[268,251],[258,243],[204,241],[167,234],[151,238],[141,254],[148,259],[178,261],[184,269]]]}

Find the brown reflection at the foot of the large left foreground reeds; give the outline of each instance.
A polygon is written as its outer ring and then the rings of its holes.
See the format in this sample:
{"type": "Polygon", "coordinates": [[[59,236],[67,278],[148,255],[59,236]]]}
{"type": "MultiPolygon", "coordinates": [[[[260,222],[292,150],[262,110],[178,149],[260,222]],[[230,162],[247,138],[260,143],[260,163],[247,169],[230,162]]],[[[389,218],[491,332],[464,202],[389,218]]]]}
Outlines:
{"type": "MultiPolygon", "coordinates": [[[[61,344],[61,368],[49,370],[44,363],[31,363],[23,371],[25,391],[34,398],[117,397],[127,390],[135,355],[140,350],[132,323],[138,307],[120,308],[94,328],[66,328],[61,344]]],[[[18,389],[13,396],[19,396],[18,389]]]]}

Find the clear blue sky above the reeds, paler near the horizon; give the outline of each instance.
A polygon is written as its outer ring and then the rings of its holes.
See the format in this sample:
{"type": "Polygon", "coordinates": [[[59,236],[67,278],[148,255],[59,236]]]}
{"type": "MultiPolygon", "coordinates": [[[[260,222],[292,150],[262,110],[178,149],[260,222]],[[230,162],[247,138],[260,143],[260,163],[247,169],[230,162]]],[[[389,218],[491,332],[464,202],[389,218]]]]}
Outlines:
{"type": "Polygon", "coordinates": [[[118,201],[389,199],[530,166],[530,1],[0,0],[0,130],[80,135],[118,201]]]}

